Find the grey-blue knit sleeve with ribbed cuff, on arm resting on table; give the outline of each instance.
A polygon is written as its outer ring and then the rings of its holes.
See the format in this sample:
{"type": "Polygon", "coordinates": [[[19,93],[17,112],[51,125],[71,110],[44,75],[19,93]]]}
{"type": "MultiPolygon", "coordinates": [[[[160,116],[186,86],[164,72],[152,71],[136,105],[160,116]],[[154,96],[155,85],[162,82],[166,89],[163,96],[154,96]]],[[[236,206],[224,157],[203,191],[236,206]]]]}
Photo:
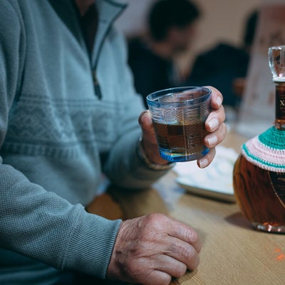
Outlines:
{"type": "MultiPolygon", "coordinates": [[[[24,62],[24,24],[16,1],[0,0],[0,27],[2,147],[24,62]]],[[[120,220],[109,221],[89,214],[81,204],[71,204],[47,192],[6,164],[4,156],[0,156],[0,201],[1,249],[56,269],[73,269],[105,277],[120,220]]]]}

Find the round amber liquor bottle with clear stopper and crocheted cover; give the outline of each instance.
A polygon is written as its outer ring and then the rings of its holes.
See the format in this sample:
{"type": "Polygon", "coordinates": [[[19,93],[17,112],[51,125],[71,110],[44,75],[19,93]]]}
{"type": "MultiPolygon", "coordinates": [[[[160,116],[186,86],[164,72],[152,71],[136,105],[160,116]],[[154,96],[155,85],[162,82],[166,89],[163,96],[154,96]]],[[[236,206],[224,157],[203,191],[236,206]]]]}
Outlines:
{"type": "Polygon", "coordinates": [[[255,229],[285,234],[285,46],[269,48],[269,67],[276,119],[269,130],[242,145],[234,165],[234,195],[255,229]]]}

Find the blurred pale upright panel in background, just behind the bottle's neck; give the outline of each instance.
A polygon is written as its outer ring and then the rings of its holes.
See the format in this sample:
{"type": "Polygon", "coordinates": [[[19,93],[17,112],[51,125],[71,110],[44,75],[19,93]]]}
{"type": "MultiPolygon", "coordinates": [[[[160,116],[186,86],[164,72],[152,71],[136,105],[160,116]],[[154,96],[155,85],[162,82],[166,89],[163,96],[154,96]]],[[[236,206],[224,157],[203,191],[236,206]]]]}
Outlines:
{"type": "Polygon", "coordinates": [[[252,138],[271,127],[275,118],[275,87],[268,48],[285,43],[285,0],[264,0],[251,53],[247,84],[236,130],[252,138]]]}

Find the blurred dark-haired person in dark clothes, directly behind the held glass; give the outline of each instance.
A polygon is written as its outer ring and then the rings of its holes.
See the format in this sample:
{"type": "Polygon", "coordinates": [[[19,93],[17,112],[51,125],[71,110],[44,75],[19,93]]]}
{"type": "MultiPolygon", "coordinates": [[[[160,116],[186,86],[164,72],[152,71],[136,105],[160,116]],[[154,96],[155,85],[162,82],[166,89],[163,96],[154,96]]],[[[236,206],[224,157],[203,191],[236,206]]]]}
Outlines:
{"type": "Polygon", "coordinates": [[[180,85],[174,60],[190,48],[199,16],[200,11],[192,1],[159,0],[147,15],[147,33],[129,39],[128,63],[145,108],[148,94],[180,85]]]}

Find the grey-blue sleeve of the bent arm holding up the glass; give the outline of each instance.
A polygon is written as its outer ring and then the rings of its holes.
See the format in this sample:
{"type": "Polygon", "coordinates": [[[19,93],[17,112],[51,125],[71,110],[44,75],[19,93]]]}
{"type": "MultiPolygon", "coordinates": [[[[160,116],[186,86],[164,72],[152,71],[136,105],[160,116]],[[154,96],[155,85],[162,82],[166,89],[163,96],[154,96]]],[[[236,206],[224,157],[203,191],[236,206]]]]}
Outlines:
{"type": "Polygon", "coordinates": [[[108,157],[103,159],[103,170],[111,182],[125,190],[139,190],[150,187],[162,175],[165,175],[170,168],[154,170],[147,166],[140,155],[141,130],[138,125],[140,113],[145,109],[142,97],[136,93],[133,84],[133,74],[128,66],[128,53],[125,39],[121,33],[113,31],[110,39],[113,41],[113,53],[118,60],[120,68],[120,94],[121,100],[125,102],[123,121],[120,125],[121,135],[113,145],[108,157]]]}

